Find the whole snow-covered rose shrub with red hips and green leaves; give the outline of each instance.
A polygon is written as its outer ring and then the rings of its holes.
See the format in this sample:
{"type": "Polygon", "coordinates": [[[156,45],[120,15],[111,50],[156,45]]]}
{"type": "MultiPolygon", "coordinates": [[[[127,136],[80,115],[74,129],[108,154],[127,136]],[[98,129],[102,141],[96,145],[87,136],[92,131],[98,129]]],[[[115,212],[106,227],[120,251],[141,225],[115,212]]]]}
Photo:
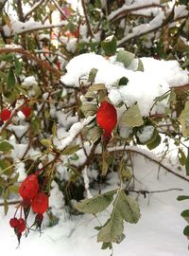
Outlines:
{"type": "Polygon", "coordinates": [[[188,3],[8,2],[0,2],[0,196],[5,214],[17,204],[9,224],[20,242],[41,231],[43,216],[51,227],[62,214],[108,211],[95,229],[112,248],[141,215],[129,194],[132,154],[188,181],[162,162],[173,139],[189,174],[188,3]]]}

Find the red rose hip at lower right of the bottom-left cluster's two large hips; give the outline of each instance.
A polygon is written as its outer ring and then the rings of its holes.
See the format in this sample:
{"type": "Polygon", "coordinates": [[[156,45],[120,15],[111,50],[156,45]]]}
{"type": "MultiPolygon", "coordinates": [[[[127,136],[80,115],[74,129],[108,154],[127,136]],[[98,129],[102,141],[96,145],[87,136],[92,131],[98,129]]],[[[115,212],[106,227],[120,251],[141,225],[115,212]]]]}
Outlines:
{"type": "Polygon", "coordinates": [[[48,209],[48,196],[43,192],[39,192],[33,199],[31,208],[34,212],[43,214],[48,209]]]}

